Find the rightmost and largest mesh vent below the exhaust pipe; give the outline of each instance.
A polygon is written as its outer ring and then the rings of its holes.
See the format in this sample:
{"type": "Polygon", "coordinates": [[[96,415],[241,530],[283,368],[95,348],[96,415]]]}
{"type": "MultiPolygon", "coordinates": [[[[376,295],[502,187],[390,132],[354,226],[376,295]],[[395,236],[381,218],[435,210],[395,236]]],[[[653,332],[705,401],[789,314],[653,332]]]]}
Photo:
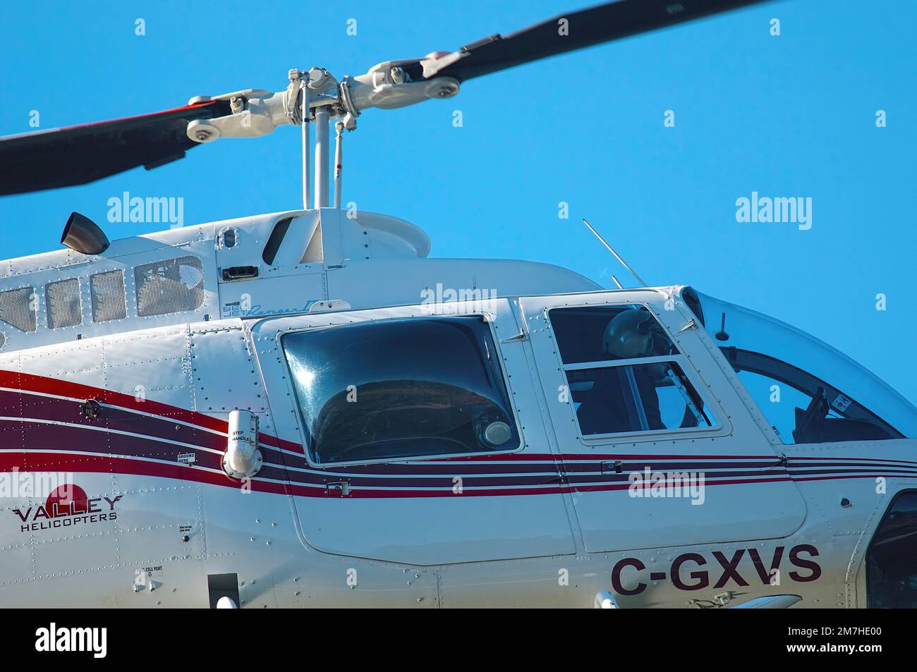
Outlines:
{"type": "Polygon", "coordinates": [[[204,270],[197,257],[143,264],[134,269],[139,317],[185,313],[204,305],[204,270]]]}

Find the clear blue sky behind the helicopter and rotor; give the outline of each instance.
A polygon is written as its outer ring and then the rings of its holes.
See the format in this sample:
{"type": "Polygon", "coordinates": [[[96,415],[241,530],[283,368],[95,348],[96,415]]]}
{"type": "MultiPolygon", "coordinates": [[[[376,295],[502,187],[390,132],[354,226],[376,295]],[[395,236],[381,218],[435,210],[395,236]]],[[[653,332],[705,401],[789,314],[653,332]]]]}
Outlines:
{"type": "MultiPolygon", "coordinates": [[[[32,130],[33,110],[50,128],[279,91],[293,67],[356,75],[588,4],[7,3],[0,134],[32,130]]],[[[433,256],[624,281],[585,216],[650,284],[689,283],[796,325],[917,402],[915,25],[911,0],[783,0],[472,80],[449,101],[361,116],[344,198],[423,227],[433,256]],[[753,192],[811,198],[811,228],[737,222],[736,199],[753,192]]],[[[110,238],[161,228],[106,222],[125,191],[181,196],[186,224],[299,207],[299,156],[285,127],[154,171],[0,198],[0,257],[57,248],[72,210],[110,238]]]]}

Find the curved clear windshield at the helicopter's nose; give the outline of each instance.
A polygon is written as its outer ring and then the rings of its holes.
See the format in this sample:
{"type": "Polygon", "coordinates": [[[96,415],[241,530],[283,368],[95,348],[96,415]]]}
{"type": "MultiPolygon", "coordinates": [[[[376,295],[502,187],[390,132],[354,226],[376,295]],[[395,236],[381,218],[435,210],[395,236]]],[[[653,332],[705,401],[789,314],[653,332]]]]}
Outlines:
{"type": "MultiPolygon", "coordinates": [[[[691,292],[683,292],[686,303],[698,312],[691,292]]],[[[917,436],[917,409],[853,359],[765,314],[696,293],[707,331],[785,443],[917,436]],[[825,417],[845,419],[844,438],[807,424],[825,417]]]]}

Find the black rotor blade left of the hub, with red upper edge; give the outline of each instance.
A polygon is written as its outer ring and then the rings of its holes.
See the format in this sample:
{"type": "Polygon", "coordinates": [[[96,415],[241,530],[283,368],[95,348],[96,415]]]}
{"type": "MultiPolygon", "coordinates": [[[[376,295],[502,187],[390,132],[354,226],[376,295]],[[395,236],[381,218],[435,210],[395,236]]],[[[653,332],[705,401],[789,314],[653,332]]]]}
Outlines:
{"type": "Polygon", "coordinates": [[[0,138],[0,195],[93,182],[179,160],[198,143],[188,122],[230,114],[227,101],[0,138]]]}

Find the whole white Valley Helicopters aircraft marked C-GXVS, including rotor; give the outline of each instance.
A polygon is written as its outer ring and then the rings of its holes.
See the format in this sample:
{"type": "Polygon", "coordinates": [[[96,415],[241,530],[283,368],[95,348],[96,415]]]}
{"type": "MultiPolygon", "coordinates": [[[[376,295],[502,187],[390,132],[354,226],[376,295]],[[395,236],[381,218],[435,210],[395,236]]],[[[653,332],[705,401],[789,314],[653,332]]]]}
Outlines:
{"type": "Polygon", "coordinates": [[[111,243],[74,213],[0,266],[0,605],[917,606],[917,410],[866,369],[688,286],[427,259],[340,207],[370,108],[748,4],[619,0],[0,138],[0,193],[304,149],[301,210],[111,243]]]}

